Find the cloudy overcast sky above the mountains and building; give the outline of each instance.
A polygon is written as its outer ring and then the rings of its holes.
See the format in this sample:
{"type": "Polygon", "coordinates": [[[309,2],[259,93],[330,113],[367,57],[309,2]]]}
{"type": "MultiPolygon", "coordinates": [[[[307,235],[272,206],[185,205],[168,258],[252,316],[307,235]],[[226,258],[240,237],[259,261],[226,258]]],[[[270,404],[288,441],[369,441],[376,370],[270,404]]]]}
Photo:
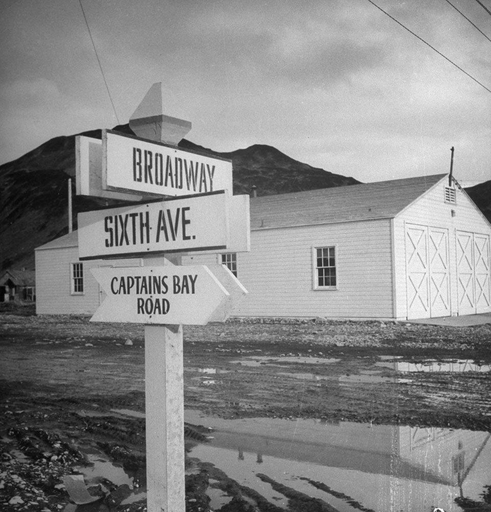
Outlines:
{"type": "MultiPolygon", "coordinates": [[[[491,15],[451,0],[491,38],[491,15]]],[[[491,42],[446,0],[374,0],[491,89],[491,42]]],[[[491,10],[491,0],[481,0],[491,10]]],[[[491,93],[368,0],[1,0],[0,163],[111,128],[152,83],[216,151],[270,144],[369,182],[491,179],[491,93]]]]}

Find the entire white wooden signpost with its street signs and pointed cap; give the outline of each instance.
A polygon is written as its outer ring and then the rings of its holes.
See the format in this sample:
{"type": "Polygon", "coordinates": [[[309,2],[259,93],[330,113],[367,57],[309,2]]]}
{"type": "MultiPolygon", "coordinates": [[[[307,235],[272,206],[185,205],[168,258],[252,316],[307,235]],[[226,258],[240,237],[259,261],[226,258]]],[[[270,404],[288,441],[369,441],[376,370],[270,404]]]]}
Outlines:
{"type": "Polygon", "coordinates": [[[249,197],[231,195],[230,161],[169,145],[191,123],[163,115],[160,94],[153,84],[130,120],[143,139],[107,130],[102,144],[77,140],[77,194],[160,198],[79,214],[79,258],[145,258],[91,270],[106,292],[91,321],[145,325],[147,510],[185,512],[182,326],[224,322],[247,291],[222,265],[174,266],[163,255],[250,250],[249,197]]]}

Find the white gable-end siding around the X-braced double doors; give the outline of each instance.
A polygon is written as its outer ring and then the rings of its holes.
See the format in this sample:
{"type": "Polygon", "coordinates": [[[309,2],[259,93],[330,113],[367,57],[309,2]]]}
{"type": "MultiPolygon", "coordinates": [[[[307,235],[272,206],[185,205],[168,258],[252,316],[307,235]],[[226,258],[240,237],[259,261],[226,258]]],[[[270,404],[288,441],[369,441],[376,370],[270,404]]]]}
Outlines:
{"type": "Polygon", "coordinates": [[[457,314],[457,274],[455,231],[491,234],[491,226],[462,190],[456,187],[456,204],[444,202],[448,177],[440,180],[426,194],[401,211],[394,219],[394,264],[396,289],[396,316],[407,318],[405,223],[448,229],[451,312],[457,314]],[[455,217],[452,217],[452,210],[455,217]]]}

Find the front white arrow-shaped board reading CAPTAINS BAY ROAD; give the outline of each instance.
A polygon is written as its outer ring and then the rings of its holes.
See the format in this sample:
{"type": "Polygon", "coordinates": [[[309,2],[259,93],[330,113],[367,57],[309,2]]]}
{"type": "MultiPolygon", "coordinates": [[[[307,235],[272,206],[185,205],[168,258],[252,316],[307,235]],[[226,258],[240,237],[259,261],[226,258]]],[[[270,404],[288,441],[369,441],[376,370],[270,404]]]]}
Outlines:
{"type": "Polygon", "coordinates": [[[204,265],[93,268],[106,293],[91,322],[205,325],[229,292],[204,265]]]}

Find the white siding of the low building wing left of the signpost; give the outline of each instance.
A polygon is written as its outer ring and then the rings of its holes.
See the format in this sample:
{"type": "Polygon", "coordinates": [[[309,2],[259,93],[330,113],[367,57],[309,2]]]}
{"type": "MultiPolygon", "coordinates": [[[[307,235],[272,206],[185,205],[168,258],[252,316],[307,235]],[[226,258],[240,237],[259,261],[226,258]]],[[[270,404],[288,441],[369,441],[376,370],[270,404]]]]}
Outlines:
{"type": "Polygon", "coordinates": [[[35,251],[36,313],[93,314],[99,306],[99,284],[91,268],[139,266],[140,260],[91,260],[83,263],[83,294],[71,292],[71,263],[79,263],[78,247],[54,247],[35,251]]]}

